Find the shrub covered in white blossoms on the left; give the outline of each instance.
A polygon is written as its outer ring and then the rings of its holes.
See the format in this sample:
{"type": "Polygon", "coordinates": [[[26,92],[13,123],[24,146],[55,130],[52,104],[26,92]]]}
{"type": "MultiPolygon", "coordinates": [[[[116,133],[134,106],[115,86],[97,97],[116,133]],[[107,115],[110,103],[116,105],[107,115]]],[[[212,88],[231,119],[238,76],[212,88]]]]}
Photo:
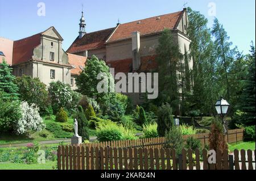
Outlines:
{"type": "Polygon", "coordinates": [[[27,102],[22,102],[20,110],[22,116],[15,125],[17,134],[25,134],[28,131],[42,131],[46,127],[42,117],[39,115],[39,108],[35,104],[29,106],[27,102]]]}

